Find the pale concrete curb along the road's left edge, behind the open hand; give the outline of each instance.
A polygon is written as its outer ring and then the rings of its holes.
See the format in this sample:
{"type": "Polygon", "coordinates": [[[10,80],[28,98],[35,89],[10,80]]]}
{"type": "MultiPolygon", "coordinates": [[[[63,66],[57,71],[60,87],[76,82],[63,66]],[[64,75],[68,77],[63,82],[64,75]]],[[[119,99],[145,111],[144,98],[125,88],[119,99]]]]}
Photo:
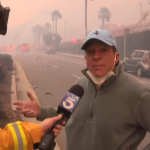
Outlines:
{"type": "MultiPolygon", "coordinates": [[[[13,60],[14,62],[14,70],[15,70],[15,75],[13,77],[13,85],[12,88],[14,89],[16,86],[16,94],[15,95],[15,99],[13,98],[13,102],[17,101],[17,96],[19,96],[20,100],[29,100],[28,96],[27,96],[27,91],[30,92],[33,97],[35,97],[35,99],[37,100],[38,104],[40,105],[36,93],[35,91],[31,88],[31,84],[29,82],[29,80],[27,79],[27,76],[25,74],[24,69],[22,68],[21,64],[18,61],[13,60]]],[[[40,105],[41,106],[41,105],[40,105]]],[[[22,118],[24,121],[27,122],[35,122],[35,123],[39,123],[39,121],[36,120],[36,118],[26,118],[22,115],[22,118]]],[[[57,140],[56,140],[57,143],[57,140]]],[[[61,150],[60,147],[58,146],[58,144],[56,144],[56,147],[54,150],[61,150]]]]}

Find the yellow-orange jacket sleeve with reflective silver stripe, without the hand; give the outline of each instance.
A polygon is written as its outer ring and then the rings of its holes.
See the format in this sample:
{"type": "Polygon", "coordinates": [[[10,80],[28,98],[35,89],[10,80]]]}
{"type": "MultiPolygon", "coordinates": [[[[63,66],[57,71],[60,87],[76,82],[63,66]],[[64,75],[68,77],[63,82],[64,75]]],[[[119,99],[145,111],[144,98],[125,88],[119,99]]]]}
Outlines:
{"type": "Polygon", "coordinates": [[[41,141],[41,127],[35,123],[14,122],[0,129],[0,150],[33,150],[41,141]]]}

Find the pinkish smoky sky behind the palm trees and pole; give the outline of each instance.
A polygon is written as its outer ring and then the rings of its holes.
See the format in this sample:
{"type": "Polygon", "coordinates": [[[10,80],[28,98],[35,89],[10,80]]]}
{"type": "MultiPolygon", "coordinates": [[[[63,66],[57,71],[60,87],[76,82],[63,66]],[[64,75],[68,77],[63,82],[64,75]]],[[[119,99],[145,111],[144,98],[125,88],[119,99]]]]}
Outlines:
{"type": "MultiPolygon", "coordinates": [[[[2,5],[11,8],[9,28],[20,26],[31,20],[44,24],[51,21],[51,12],[59,10],[62,19],[58,21],[58,32],[64,34],[66,22],[67,37],[84,37],[84,2],[85,0],[2,0],[2,5]],[[45,13],[44,13],[45,12],[45,13]]],[[[140,19],[140,5],[143,11],[150,9],[149,0],[88,0],[88,31],[99,28],[100,7],[107,7],[111,12],[110,23],[132,24],[140,19]]]]}

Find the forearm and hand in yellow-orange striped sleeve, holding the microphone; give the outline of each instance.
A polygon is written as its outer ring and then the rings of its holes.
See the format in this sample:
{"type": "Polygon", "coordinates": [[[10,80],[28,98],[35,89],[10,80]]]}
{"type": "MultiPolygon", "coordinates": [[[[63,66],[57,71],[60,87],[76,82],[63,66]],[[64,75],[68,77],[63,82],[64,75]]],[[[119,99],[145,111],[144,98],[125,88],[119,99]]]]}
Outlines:
{"type": "MultiPolygon", "coordinates": [[[[3,130],[0,129],[0,150],[34,150],[34,144],[40,143],[44,134],[61,117],[45,119],[40,124],[21,121],[7,124],[3,130]]],[[[56,137],[61,128],[57,125],[53,130],[56,137]]]]}

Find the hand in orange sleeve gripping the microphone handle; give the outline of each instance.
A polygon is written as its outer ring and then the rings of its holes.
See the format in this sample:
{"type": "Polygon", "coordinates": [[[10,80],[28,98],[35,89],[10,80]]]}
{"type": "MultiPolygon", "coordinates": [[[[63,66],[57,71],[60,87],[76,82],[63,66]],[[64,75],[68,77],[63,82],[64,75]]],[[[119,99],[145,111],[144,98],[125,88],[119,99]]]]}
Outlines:
{"type": "MultiPolygon", "coordinates": [[[[43,134],[47,133],[52,126],[54,125],[54,123],[58,120],[60,120],[62,118],[62,115],[58,115],[57,117],[53,117],[53,118],[49,118],[49,119],[45,119],[44,121],[42,121],[40,123],[40,126],[42,128],[43,134]]],[[[63,122],[63,125],[65,125],[65,122],[63,122]]],[[[58,136],[60,130],[62,129],[62,125],[57,125],[55,129],[53,129],[54,135],[55,137],[58,136]]]]}

